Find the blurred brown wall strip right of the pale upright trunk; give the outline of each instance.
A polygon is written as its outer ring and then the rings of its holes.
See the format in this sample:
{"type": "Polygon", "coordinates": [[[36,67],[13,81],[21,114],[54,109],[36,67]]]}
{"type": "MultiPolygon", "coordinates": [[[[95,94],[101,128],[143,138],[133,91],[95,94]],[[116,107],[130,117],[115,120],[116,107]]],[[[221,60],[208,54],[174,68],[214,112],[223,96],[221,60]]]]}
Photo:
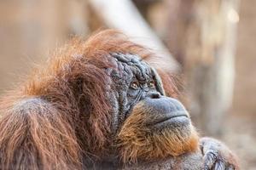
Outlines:
{"type": "Polygon", "coordinates": [[[256,115],[256,1],[241,1],[234,112],[256,115]]]}

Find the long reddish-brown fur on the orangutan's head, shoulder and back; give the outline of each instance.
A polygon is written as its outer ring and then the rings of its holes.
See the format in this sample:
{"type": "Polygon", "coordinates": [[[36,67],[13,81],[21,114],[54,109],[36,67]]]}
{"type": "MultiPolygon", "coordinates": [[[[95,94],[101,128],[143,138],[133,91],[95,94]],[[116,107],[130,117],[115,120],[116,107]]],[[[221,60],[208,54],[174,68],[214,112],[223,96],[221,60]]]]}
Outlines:
{"type": "Polygon", "coordinates": [[[112,115],[105,94],[112,81],[104,69],[113,52],[154,57],[117,31],[73,39],[1,100],[1,169],[80,169],[82,157],[108,154],[112,115]]]}

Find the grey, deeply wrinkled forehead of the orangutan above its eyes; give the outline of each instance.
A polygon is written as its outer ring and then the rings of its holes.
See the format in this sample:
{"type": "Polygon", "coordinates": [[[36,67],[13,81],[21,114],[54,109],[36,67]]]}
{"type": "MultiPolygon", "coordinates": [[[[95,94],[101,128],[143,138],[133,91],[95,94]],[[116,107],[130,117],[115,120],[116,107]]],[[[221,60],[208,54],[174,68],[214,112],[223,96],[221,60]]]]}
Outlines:
{"type": "Polygon", "coordinates": [[[125,74],[136,77],[139,81],[146,81],[152,77],[150,66],[135,54],[113,53],[117,69],[125,74]]]}

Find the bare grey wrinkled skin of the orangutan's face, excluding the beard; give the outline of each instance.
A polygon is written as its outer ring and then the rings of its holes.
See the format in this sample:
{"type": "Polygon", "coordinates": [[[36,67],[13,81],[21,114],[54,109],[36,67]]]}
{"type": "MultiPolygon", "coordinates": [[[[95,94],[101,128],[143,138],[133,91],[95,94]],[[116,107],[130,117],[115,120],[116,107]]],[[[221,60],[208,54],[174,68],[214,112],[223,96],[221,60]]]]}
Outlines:
{"type": "Polygon", "coordinates": [[[182,126],[190,123],[189,115],[183,105],[176,99],[164,96],[160,77],[147,63],[137,55],[112,54],[114,69],[110,72],[115,94],[110,100],[114,104],[113,131],[118,131],[125,119],[131,115],[133,108],[143,102],[150,108],[147,125],[161,130],[166,127],[182,126]]]}

